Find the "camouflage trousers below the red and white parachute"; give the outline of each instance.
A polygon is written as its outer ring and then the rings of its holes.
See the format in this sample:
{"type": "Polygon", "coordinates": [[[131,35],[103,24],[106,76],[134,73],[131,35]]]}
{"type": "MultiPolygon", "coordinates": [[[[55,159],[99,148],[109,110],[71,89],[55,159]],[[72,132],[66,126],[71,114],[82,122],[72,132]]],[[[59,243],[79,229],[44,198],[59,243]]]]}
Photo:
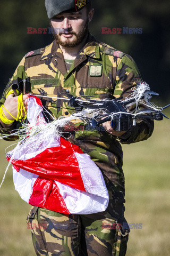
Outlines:
{"type": "Polygon", "coordinates": [[[61,214],[32,206],[27,217],[38,256],[124,256],[128,234],[102,215],[61,214]]]}

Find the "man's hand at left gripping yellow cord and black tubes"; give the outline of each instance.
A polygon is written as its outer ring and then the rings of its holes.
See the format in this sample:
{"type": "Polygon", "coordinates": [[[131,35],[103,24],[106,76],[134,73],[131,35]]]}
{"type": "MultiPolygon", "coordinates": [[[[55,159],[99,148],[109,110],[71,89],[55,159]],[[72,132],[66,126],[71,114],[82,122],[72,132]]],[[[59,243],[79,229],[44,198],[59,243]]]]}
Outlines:
{"type": "MultiPolygon", "coordinates": [[[[23,99],[23,106],[26,106],[26,102],[25,100],[28,98],[28,94],[23,95],[22,99],[23,99]]],[[[9,94],[6,97],[5,103],[4,103],[4,107],[8,110],[8,112],[10,112],[10,114],[13,117],[17,117],[18,115],[18,96],[14,97],[14,93],[9,94]]],[[[3,108],[3,112],[4,115],[6,116],[7,119],[13,121],[14,118],[3,108]]],[[[25,115],[24,110],[22,111],[23,116],[25,115]]],[[[2,122],[1,122],[2,123],[2,122]]],[[[3,124],[3,123],[2,123],[3,124]]],[[[3,124],[4,127],[6,126],[11,126],[12,124],[3,124]]]]}

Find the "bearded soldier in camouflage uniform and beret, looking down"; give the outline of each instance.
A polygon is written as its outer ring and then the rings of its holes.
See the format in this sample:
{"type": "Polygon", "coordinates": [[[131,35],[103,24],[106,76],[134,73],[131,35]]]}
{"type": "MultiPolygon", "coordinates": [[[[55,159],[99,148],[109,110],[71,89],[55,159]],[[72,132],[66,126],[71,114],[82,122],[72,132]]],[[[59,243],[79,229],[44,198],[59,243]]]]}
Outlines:
{"type": "MultiPolygon", "coordinates": [[[[89,33],[94,9],[90,0],[46,0],[48,18],[54,29],[52,44],[27,53],[21,60],[1,99],[6,118],[1,133],[16,129],[17,98],[6,97],[17,78],[30,77],[32,93],[49,97],[70,98],[71,95],[95,96],[95,99],[123,99],[132,93],[141,76],[133,59],[89,33]],[[55,33],[59,31],[59,33],[55,33]],[[12,117],[13,116],[13,117],[12,117]]],[[[23,95],[23,105],[27,95],[23,95]]],[[[43,104],[58,118],[76,112],[64,99],[46,100],[43,104]]],[[[105,212],[80,215],[61,214],[32,206],[27,217],[37,255],[120,255],[126,254],[128,225],[124,218],[124,174],[121,143],[148,139],[154,129],[153,121],[143,119],[128,131],[117,132],[111,122],[100,131],[73,129],[72,143],[88,154],[103,173],[109,193],[105,212]]],[[[82,127],[71,123],[71,127],[82,127]]],[[[9,140],[14,140],[12,135],[9,140]]]]}

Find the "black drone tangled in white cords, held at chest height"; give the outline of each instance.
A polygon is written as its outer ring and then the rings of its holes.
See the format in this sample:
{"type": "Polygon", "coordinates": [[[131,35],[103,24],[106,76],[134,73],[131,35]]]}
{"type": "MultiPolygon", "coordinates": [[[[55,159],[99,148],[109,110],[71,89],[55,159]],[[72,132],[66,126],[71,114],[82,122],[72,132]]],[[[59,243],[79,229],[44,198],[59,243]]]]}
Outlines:
{"type": "MultiPolygon", "coordinates": [[[[142,98],[145,98],[145,95],[159,95],[156,92],[146,90],[142,95],[142,98]]],[[[77,110],[82,110],[83,108],[90,109],[101,109],[104,110],[104,115],[97,115],[94,118],[91,118],[89,121],[89,126],[92,129],[95,129],[98,125],[103,124],[107,121],[111,121],[111,126],[115,131],[127,131],[130,129],[131,124],[135,126],[137,124],[137,119],[155,119],[157,121],[163,120],[163,118],[169,119],[162,111],[170,106],[167,105],[163,108],[156,109],[154,107],[136,109],[135,114],[129,113],[127,108],[131,103],[135,103],[134,98],[126,99],[126,101],[121,101],[123,97],[113,99],[113,100],[81,100],[78,97],[72,97],[68,106],[74,107],[77,110]],[[101,119],[102,118],[102,119],[101,119]]]]}

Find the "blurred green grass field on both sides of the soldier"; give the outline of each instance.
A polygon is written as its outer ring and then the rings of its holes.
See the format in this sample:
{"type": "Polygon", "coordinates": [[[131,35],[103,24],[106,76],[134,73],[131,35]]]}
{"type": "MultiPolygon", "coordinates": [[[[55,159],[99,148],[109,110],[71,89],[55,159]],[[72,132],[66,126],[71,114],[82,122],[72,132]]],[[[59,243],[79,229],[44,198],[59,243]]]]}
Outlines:
{"type": "MultiPolygon", "coordinates": [[[[125,217],[129,223],[142,223],[142,229],[131,229],[127,256],[170,255],[169,127],[167,119],[157,121],[149,140],[123,145],[125,217]]],[[[10,143],[4,140],[0,143],[2,180],[7,166],[5,148],[10,143]]],[[[0,255],[36,255],[26,223],[30,205],[15,191],[11,167],[0,189],[0,201],[0,255]]]]}

